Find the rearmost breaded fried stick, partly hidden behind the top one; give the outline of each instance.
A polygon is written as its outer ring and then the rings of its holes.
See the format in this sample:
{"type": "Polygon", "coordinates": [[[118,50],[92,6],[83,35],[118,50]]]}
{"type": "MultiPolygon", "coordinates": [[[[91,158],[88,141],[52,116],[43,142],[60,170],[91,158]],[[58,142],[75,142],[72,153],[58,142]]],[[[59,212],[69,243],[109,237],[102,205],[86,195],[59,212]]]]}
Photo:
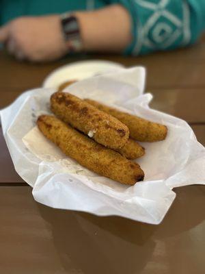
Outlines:
{"type": "Polygon", "coordinates": [[[98,110],[102,110],[124,123],[130,131],[131,138],[135,140],[141,142],[156,142],[164,140],[167,136],[167,127],[165,125],[150,122],[91,99],[85,99],[85,101],[94,105],[98,110]]]}

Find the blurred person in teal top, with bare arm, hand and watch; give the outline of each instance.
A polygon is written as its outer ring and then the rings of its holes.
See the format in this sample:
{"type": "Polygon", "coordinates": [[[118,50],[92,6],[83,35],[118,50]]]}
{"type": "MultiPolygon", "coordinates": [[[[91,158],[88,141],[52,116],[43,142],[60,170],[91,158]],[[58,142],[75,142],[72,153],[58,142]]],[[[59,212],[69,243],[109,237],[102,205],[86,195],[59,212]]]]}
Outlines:
{"type": "Polygon", "coordinates": [[[193,45],[204,0],[0,0],[0,42],[18,60],[79,52],[146,55],[193,45]]]}

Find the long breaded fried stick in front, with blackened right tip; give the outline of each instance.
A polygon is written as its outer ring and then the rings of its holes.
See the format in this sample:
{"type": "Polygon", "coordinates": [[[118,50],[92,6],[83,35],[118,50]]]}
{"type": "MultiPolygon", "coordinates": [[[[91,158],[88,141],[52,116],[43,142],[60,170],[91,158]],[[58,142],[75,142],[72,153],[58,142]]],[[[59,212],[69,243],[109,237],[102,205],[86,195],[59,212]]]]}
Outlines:
{"type": "Polygon", "coordinates": [[[37,125],[46,138],[87,169],[122,184],[133,185],[143,180],[144,173],[139,164],[103,147],[55,116],[42,115],[37,125]]]}

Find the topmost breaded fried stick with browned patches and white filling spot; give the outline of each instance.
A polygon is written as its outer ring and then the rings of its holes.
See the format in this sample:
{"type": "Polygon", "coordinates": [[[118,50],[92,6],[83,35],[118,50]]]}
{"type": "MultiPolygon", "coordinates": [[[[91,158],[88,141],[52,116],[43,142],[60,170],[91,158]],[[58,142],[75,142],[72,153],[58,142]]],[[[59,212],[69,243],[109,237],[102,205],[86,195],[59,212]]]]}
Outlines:
{"type": "Polygon", "coordinates": [[[105,147],[119,149],[128,140],[126,125],[70,93],[55,92],[51,96],[51,110],[59,119],[105,147]]]}

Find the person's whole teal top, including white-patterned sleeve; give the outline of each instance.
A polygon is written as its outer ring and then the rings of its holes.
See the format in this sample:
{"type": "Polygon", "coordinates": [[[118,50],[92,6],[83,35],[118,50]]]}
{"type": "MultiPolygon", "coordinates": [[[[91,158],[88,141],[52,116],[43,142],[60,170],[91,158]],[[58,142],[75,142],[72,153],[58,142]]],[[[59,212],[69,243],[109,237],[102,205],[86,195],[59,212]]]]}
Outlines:
{"type": "Polygon", "coordinates": [[[18,16],[95,10],[112,3],[124,5],[131,14],[128,55],[191,45],[205,30],[205,0],[0,0],[0,24],[18,16]]]}

